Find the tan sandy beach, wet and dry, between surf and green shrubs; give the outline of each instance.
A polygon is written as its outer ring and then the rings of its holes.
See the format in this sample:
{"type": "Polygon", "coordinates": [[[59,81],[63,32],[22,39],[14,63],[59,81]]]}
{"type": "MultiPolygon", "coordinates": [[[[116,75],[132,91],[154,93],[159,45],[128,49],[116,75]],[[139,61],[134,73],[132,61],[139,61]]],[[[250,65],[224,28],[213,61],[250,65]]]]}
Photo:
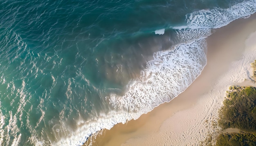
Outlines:
{"type": "Polygon", "coordinates": [[[137,120],[100,131],[88,142],[95,146],[194,146],[209,133],[214,135],[228,87],[254,85],[250,63],[256,59],[256,14],[216,29],[207,44],[207,65],[183,93],[137,120]]]}

